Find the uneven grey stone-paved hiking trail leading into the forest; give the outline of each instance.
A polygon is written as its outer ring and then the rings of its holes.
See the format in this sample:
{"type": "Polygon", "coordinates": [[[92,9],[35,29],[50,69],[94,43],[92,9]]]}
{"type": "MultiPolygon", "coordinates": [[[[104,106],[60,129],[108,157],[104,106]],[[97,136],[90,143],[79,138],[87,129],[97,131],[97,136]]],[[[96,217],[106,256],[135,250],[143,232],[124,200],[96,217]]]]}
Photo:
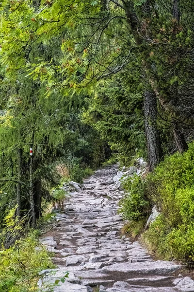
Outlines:
{"type": "MultiPolygon", "coordinates": [[[[58,268],[42,271],[39,287],[69,272],[54,292],[194,292],[194,281],[182,276],[176,262],[154,260],[139,241],[121,236],[117,214],[119,191],[113,182],[118,165],[99,169],[71,192],[59,227],[41,238],[55,253],[58,268]]],[[[41,288],[41,291],[49,291],[41,288]]]]}

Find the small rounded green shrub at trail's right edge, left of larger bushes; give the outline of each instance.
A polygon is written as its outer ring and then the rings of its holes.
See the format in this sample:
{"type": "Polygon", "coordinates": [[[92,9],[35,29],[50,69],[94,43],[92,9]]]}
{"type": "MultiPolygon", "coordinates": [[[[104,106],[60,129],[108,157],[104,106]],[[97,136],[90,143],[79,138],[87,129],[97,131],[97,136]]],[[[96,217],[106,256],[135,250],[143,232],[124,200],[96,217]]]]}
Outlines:
{"type": "Polygon", "coordinates": [[[119,213],[129,221],[140,221],[147,217],[150,204],[145,195],[145,182],[141,177],[135,175],[126,180],[126,196],[119,202],[119,213]]]}

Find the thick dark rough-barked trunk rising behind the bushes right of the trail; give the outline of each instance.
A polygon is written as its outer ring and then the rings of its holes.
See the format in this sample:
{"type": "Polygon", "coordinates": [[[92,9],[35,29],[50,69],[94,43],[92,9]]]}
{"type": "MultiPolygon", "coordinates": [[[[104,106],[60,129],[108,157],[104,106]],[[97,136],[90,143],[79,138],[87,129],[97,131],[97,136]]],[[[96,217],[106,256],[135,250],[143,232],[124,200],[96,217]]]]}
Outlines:
{"type": "Polygon", "coordinates": [[[160,162],[162,147],[160,135],[157,130],[157,101],[154,91],[145,91],[144,95],[145,132],[149,170],[160,162]]]}

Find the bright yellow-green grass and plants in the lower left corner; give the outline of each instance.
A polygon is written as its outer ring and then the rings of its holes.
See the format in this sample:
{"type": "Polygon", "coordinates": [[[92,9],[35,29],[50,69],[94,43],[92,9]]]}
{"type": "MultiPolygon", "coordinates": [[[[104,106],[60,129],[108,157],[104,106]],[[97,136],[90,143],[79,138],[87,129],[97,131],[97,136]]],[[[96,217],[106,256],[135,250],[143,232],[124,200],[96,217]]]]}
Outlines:
{"type": "Polygon", "coordinates": [[[37,239],[38,230],[24,233],[23,224],[15,219],[14,210],[5,221],[6,227],[0,235],[0,292],[36,292],[39,272],[54,267],[49,253],[37,239]],[[4,244],[6,238],[11,237],[10,233],[15,234],[15,240],[6,249],[4,244]]]}

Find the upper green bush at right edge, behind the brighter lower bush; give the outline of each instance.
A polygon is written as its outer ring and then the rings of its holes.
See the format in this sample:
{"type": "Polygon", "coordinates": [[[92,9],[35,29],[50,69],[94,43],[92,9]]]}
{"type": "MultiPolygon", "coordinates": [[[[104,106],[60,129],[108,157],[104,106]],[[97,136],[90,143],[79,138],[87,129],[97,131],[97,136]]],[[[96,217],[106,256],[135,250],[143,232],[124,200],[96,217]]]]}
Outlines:
{"type": "Polygon", "coordinates": [[[147,177],[148,197],[161,208],[162,214],[174,227],[179,222],[176,191],[188,187],[194,187],[194,144],[183,154],[176,153],[165,158],[147,177]]]}

